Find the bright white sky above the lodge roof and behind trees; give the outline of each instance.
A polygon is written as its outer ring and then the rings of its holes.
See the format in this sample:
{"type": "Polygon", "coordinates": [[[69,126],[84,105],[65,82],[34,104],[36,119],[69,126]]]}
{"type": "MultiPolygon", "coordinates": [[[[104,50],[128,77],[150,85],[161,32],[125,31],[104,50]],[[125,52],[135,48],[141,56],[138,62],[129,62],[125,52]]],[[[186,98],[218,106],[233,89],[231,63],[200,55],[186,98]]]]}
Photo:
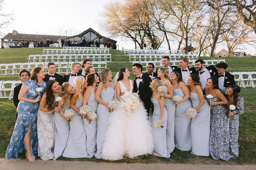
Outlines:
{"type": "MultiPolygon", "coordinates": [[[[14,13],[14,21],[5,34],[16,30],[23,34],[52,34],[57,29],[73,29],[76,34],[92,28],[102,36],[110,37],[104,28],[99,26],[104,5],[112,0],[5,0],[4,10],[14,13]]],[[[119,0],[120,1],[120,0],[119,0]]],[[[117,42],[119,49],[134,49],[134,43],[123,37],[110,37],[117,42]]],[[[178,46],[178,45],[177,45],[178,46]]],[[[223,48],[220,44],[218,52],[223,48]]],[[[240,46],[237,51],[255,54],[256,49],[251,46],[240,46]]],[[[168,49],[163,46],[161,49],[168,49]]],[[[227,49],[227,48],[225,48],[227,49]]]]}

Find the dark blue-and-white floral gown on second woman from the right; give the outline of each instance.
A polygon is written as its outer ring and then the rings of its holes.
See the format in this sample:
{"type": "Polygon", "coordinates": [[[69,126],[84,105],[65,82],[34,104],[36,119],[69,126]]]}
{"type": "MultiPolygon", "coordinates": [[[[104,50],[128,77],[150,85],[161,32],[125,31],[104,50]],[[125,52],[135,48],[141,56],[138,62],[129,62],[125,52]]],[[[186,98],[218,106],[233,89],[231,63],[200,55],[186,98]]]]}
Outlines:
{"type": "MultiPolygon", "coordinates": [[[[206,98],[206,97],[205,97],[206,98]]],[[[210,104],[210,99],[206,98],[210,104]]],[[[217,97],[212,98],[214,102],[220,102],[217,97]]],[[[228,117],[224,105],[211,105],[211,132],[210,132],[210,154],[214,160],[230,160],[228,117]]]]}

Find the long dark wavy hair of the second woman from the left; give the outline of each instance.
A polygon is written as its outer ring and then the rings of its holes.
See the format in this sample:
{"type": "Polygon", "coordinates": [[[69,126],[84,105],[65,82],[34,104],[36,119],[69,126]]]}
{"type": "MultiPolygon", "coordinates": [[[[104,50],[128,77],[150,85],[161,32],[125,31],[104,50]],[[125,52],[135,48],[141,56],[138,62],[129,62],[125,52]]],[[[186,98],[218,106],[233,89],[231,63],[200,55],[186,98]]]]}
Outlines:
{"type": "Polygon", "coordinates": [[[46,83],[46,91],[45,91],[45,93],[46,93],[46,104],[48,105],[47,109],[49,111],[54,109],[54,107],[56,106],[55,96],[54,96],[54,93],[52,91],[52,85],[55,82],[57,82],[57,81],[56,80],[49,80],[46,83]]]}

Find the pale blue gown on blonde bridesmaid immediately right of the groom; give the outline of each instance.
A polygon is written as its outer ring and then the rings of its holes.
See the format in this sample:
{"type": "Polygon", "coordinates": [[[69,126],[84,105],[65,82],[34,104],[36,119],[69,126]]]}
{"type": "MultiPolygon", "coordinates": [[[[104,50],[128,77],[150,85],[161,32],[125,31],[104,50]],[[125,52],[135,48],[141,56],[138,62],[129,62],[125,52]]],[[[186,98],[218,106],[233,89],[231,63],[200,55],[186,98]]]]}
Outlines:
{"type": "MultiPolygon", "coordinates": [[[[151,97],[151,102],[154,105],[154,112],[153,112],[152,121],[151,121],[153,123],[155,120],[159,119],[161,108],[160,108],[158,99],[151,97]]],[[[168,151],[167,143],[166,143],[167,119],[168,119],[168,115],[167,115],[166,108],[164,107],[164,115],[162,119],[162,123],[163,123],[162,125],[164,126],[164,128],[156,129],[153,127],[153,137],[155,140],[154,155],[160,156],[163,158],[170,158],[170,152],[168,151]]]]}

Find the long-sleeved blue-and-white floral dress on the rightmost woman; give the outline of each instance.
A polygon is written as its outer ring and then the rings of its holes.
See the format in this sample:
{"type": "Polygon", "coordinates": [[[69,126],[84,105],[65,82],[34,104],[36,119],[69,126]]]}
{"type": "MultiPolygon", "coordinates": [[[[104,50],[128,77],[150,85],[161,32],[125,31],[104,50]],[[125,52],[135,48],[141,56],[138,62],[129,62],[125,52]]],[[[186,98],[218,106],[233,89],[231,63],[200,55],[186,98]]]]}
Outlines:
{"type": "MultiPolygon", "coordinates": [[[[228,103],[228,112],[229,106],[231,104],[228,103]]],[[[239,129],[239,115],[244,113],[244,98],[238,97],[237,98],[237,105],[235,106],[235,110],[233,110],[234,115],[230,117],[229,120],[229,153],[232,156],[238,157],[239,156],[239,144],[238,144],[238,129],[239,129]]]]}

